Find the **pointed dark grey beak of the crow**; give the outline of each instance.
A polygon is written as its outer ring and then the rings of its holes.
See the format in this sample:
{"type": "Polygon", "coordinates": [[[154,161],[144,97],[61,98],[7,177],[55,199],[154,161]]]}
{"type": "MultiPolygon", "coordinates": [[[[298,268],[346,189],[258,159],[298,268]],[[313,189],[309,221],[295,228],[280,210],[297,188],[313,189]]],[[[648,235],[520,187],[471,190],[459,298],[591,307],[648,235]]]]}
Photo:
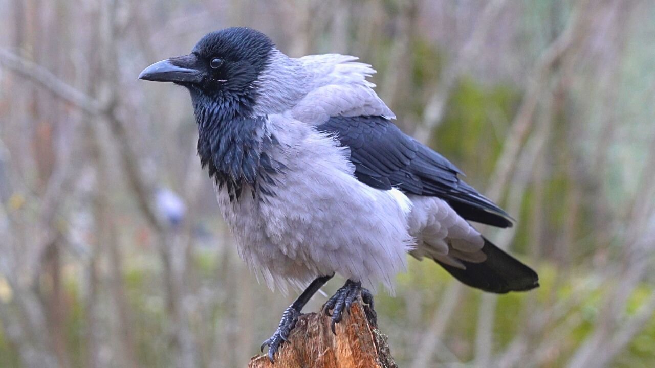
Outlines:
{"type": "Polygon", "coordinates": [[[202,81],[202,72],[195,69],[196,62],[197,58],[193,54],[162,60],[143,69],[139,79],[155,82],[199,83],[202,81]]]}

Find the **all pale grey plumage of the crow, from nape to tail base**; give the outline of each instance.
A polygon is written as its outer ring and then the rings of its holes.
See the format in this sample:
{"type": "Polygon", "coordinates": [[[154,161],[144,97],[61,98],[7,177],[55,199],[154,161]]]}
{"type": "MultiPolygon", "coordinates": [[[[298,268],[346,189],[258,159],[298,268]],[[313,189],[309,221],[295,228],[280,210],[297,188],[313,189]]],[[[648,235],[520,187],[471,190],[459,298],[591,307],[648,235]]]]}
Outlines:
{"type": "Polygon", "coordinates": [[[329,117],[392,111],[366,77],[370,65],[338,54],[288,58],[272,51],[270,66],[255,82],[255,115],[266,116],[264,135],[274,136],[267,155],[284,165],[274,183],[248,187],[230,200],[217,187],[223,217],[239,254],[269,287],[303,288],[336,272],[371,289],[392,290],[405,270],[406,253],[455,267],[451,257],[483,261],[483,239],[444,200],[369,187],[334,136],[316,130],[329,117]],[[252,191],[269,191],[271,196],[252,191]]]}

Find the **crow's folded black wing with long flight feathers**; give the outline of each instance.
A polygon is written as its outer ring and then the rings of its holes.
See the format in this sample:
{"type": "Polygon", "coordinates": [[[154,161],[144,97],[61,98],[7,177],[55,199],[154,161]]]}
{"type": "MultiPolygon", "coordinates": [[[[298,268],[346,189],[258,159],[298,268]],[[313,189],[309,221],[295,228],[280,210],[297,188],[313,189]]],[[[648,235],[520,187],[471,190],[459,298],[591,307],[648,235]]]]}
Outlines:
{"type": "Polygon", "coordinates": [[[350,147],[359,181],[377,189],[438,196],[469,221],[512,227],[512,217],[457,177],[460,170],[384,117],[331,117],[317,127],[350,147]]]}

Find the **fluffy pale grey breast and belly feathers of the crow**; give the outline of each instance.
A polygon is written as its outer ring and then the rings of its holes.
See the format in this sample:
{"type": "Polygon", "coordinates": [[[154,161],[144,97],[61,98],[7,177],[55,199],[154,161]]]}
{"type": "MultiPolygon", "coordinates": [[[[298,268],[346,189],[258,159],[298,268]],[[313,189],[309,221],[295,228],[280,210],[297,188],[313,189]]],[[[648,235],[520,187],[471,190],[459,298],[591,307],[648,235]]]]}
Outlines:
{"type": "Polygon", "coordinates": [[[269,117],[279,144],[269,153],[284,165],[272,175],[272,195],[230,202],[218,191],[221,212],[241,257],[270,287],[306,285],[336,272],[371,289],[406,267],[409,200],[394,189],[358,181],[344,149],[297,120],[269,117]]]}

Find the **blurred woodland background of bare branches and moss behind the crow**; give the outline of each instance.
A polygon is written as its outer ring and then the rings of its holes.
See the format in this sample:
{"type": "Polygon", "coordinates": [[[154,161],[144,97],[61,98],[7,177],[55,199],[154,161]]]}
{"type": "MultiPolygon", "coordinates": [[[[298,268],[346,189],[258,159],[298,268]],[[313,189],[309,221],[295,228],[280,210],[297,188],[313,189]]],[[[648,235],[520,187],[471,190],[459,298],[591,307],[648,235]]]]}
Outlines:
{"type": "Polygon", "coordinates": [[[650,0],[0,0],[0,367],[246,367],[274,331],[295,295],[238,259],[186,90],[136,79],[234,25],[372,64],[517,219],[483,230],[536,291],[412,259],[377,296],[400,367],[655,367],[650,0]]]}

